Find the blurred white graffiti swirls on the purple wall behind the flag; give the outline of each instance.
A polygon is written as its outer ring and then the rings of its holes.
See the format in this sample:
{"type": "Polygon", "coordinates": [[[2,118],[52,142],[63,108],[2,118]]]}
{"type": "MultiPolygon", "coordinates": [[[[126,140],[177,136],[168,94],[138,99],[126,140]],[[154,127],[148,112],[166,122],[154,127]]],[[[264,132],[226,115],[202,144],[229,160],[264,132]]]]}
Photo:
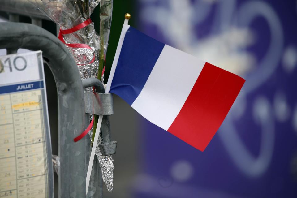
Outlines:
{"type": "MultiPolygon", "coordinates": [[[[239,9],[235,9],[238,7],[235,0],[142,0],[142,4],[141,20],[156,25],[166,41],[174,47],[245,77],[243,90],[222,124],[218,136],[239,170],[250,177],[261,176],[273,156],[276,119],[273,105],[267,97],[255,95],[252,107],[247,106],[246,100],[249,94],[269,80],[282,58],[283,30],[276,12],[263,1],[247,1],[239,9]],[[207,37],[197,38],[195,27],[205,22],[214,6],[217,9],[211,32],[207,37]],[[243,49],[255,43],[256,30],[250,26],[259,17],[268,24],[270,42],[264,57],[256,63],[255,54],[243,49]],[[240,129],[236,129],[234,125],[234,121],[242,118],[247,108],[253,109],[254,122],[261,127],[261,145],[257,157],[244,145],[238,135],[240,129]]],[[[280,101],[278,97],[276,93],[276,102],[280,101]]],[[[286,101],[280,102],[284,102],[282,105],[286,106],[286,101]]],[[[281,110],[276,111],[282,113],[281,110]]],[[[291,115],[287,117],[289,119],[291,115]]]]}

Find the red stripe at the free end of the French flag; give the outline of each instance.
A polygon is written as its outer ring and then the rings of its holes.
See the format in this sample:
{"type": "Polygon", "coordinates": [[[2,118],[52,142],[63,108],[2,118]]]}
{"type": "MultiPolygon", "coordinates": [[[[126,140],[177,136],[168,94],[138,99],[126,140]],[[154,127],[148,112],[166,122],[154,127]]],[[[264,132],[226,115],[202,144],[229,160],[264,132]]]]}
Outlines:
{"type": "Polygon", "coordinates": [[[168,132],[204,151],[224,121],[244,82],[238,75],[205,63],[168,132]]]}

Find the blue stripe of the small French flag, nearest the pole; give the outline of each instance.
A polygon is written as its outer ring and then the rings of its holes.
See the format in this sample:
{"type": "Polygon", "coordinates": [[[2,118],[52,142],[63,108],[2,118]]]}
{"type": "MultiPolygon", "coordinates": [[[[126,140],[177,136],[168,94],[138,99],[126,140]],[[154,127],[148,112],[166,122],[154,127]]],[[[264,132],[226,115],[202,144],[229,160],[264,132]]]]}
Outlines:
{"type": "Polygon", "coordinates": [[[149,78],[164,45],[130,26],[123,41],[110,92],[132,105],[149,78]]]}

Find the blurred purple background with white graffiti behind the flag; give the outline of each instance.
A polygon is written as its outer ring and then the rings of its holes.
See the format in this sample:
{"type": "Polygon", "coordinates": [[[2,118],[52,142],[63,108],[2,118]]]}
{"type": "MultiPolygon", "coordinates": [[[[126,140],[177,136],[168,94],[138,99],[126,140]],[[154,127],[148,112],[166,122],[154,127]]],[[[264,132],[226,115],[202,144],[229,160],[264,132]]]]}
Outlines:
{"type": "MultiPolygon", "coordinates": [[[[140,31],[246,83],[203,153],[114,96],[114,191],[103,187],[104,197],[297,197],[297,1],[114,1],[105,80],[126,12],[140,31]]],[[[98,13],[99,7],[92,15],[97,32],[98,13]]],[[[56,32],[52,22],[43,28],[56,32]]],[[[182,65],[180,71],[187,75],[182,65]]],[[[48,96],[55,97],[54,80],[45,72],[46,84],[53,84],[48,96]]],[[[56,101],[48,101],[55,131],[56,101]]]]}

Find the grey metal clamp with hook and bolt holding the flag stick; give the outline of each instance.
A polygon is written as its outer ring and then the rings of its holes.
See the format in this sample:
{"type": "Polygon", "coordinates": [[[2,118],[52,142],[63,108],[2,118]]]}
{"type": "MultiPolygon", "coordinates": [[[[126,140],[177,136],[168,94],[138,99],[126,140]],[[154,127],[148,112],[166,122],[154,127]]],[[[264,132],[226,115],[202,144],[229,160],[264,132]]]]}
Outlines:
{"type": "Polygon", "coordinates": [[[95,87],[96,92],[84,92],[85,111],[88,114],[103,115],[101,132],[102,142],[99,144],[103,155],[116,153],[117,142],[111,140],[109,115],[114,114],[113,98],[111,93],[104,93],[103,84],[97,78],[82,80],[83,87],[95,87]]]}

